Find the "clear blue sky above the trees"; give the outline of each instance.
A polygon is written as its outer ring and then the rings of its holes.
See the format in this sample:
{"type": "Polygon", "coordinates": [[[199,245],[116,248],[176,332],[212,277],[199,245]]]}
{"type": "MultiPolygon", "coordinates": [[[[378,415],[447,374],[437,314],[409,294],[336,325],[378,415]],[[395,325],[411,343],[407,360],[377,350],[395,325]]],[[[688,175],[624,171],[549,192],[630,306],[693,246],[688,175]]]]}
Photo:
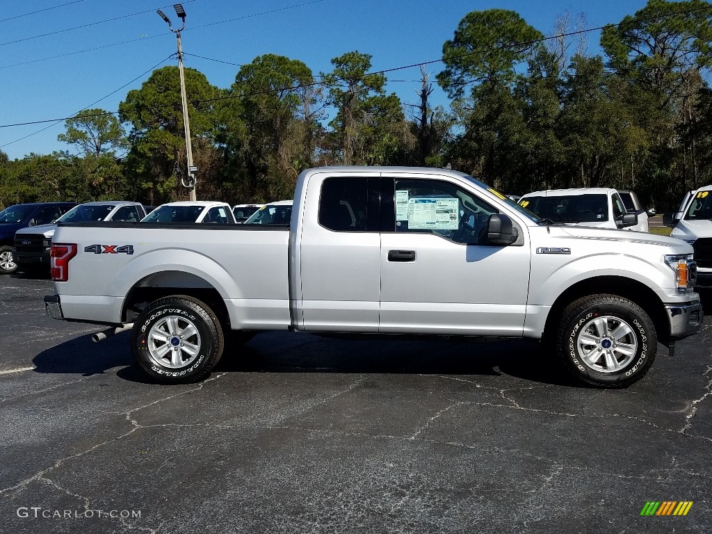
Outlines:
{"type": "MultiPolygon", "coordinates": [[[[179,27],[172,4],[145,0],[36,0],[6,2],[0,12],[0,150],[11,159],[34,152],[73,150],[59,142],[64,122],[84,108],[116,111],[154,68],[177,65],[169,58],[176,40],[156,14],[162,9],[179,27]],[[43,130],[43,131],[40,131],[43,130]]],[[[233,83],[239,65],[275,53],[303,61],[313,73],[329,72],[330,60],[357,50],[372,57],[372,70],[441,58],[444,41],[470,11],[511,9],[545,35],[557,16],[572,26],[585,14],[586,28],[617,23],[645,0],[184,0],[184,64],[221,88],[233,83]]],[[[572,28],[574,29],[574,28],[572,28]]],[[[599,33],[587,34],[590,54],[599,33]]],[[[426,70],[433,76],[441,63],[426,70]]],[[[389,73],[387,90],[416,103],[418,67],[389,73]]],[[[434,103],[447,100],[436,88],[434,103]]]]}

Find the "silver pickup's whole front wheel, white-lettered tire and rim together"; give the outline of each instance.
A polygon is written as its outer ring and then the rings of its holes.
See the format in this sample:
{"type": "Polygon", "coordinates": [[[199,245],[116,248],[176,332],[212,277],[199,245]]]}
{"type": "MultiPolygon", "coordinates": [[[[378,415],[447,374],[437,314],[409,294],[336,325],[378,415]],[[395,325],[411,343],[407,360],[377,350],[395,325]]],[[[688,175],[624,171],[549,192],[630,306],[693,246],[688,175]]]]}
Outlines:
{"type": "Polygon", "coordinates": [[[564,310],[556,348],[572,375],[597,387],[627,387],[644,377],[658,340],[649,315],[618,295],[591,295],[564,310]]]}

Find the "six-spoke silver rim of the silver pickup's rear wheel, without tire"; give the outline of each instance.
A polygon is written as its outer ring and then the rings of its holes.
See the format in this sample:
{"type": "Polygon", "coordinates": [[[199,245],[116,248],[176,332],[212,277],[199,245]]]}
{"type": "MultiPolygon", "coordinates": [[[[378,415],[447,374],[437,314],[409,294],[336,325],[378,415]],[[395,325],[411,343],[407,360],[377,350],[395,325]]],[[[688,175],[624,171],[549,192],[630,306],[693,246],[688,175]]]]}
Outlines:
{"type": "Polygon", "coordinates": [[[190,365],[200,352],[200,334],[196,325],[184,317],[169,315],[151,327],[146,340],[153,362],[179,369],[190,365]]]}

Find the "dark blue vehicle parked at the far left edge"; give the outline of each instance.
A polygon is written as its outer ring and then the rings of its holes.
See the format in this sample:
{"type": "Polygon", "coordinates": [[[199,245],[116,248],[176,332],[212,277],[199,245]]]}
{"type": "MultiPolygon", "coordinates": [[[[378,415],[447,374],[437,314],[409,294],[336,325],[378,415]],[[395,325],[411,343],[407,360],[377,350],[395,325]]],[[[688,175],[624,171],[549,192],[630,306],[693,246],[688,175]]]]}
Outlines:
{"type": "Polygon", "coordinates": [[[0,211],[0,274],[17,271],[13,251],[16,231],[56,221],[76,205],[76,202],[38,202],[15,204],[0,211]]]}

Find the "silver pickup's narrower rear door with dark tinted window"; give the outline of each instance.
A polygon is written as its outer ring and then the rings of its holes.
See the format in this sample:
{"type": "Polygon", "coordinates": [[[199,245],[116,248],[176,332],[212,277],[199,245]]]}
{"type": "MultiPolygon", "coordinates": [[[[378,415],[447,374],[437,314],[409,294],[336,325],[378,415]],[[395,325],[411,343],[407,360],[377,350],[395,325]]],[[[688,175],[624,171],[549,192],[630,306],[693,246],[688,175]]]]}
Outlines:
{"type": "Polygon", "coordinates": [[[353,172],[310,177],[299,236],[300,300],[308,332],[378,331],[381,288],[379,179],[353,172]]]}

